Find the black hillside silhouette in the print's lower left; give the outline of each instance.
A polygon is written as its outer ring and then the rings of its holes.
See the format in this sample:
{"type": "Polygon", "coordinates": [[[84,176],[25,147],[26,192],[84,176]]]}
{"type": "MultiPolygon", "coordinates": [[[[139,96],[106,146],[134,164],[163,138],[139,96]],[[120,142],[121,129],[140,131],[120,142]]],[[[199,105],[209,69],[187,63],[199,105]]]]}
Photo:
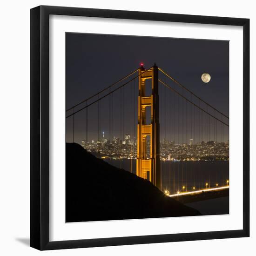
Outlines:
{"type": "Polygon", "coordinates": [[[151,182],[66,144],[66,221],[196,216],[197,210],[165,196],[151,182]]]}

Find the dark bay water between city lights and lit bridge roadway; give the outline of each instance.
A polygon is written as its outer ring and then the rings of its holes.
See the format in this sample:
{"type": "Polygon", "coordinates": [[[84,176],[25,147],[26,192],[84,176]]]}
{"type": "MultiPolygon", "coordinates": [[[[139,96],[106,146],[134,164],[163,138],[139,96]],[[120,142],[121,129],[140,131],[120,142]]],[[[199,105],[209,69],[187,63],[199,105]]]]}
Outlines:
{"type": "MultiPolygon", "coordinates": [[[[136,174],[136,160],[109,160],[106,162],[118,168],[123,168],[136,174]]],[[[162,191],[167,189],[170,194],[177,191],[191,191],[195,189],[224,186],[229,180],[228,161],[161,161],[162,191]],[[184,189],[182,189],[185,187],[184,189]]]]}

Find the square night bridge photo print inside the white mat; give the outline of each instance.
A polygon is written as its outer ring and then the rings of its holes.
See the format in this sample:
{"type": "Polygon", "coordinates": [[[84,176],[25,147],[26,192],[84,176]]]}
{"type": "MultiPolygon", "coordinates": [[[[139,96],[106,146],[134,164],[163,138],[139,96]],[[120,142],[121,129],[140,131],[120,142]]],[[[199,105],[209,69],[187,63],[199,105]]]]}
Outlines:
{"type": "Polygon", "coordinates": [[[228,40],[66,33],[66,222],[225,215],[229,183],[228,40]]]}

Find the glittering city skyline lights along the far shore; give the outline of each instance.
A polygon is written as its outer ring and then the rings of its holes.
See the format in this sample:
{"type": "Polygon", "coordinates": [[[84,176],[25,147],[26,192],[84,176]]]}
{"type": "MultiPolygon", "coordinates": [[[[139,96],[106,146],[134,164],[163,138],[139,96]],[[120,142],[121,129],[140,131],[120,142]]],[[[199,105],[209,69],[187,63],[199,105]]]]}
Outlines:
{"type": "MultiPolygon", "coordinates": [[[[101,133],[101,139],[91,141],[81,141],[81,146],[89,152],[100,153],[108,156],[108,159],[136,159],[137,139],[126,134],[123,138],[113,136],[109,140],[106,132],[101,133]]],[[[148,142],[149,143],[149,142],[148,142]]],[[[175,141],[160,140],[160,160],[161,161],[229,161],[229,144],[215,142],[175,144],[175,141]]],[[[149,147],[149,144],[147,145],[149,147]]],[[[150,156],[147,155],[149,158],[150,156]]],[[[226,181],[229,184],[229,181],[226,181]]]]}

